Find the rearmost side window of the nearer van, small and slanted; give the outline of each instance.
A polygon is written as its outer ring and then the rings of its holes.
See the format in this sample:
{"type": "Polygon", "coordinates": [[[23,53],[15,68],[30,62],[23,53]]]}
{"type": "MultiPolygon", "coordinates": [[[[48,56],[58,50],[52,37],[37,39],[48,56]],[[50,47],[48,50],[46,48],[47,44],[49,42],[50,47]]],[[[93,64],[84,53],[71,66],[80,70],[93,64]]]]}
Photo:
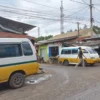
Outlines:
{"type": "Polygon", "coordinates": [[[31,46],[28,42],[22,42],[23,53],[25,56],[30,56],[33,54],[31,46]]]}

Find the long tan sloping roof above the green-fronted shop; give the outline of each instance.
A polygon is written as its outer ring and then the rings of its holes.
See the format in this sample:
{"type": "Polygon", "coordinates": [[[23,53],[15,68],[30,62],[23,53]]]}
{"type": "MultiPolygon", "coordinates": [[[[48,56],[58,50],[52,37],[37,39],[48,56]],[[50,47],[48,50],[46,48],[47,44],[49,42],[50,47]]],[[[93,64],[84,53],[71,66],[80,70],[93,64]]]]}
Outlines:
{"type": "MultiPolygon", "coordinates": [[[[82,41],[84,38],[88,38],[91,36],[91,29],[82,29],[80,30],[79,41],[82,41]]],[[[37,45],[43,45],[47,43],[61,42],[61,41],[71,41],[71,43],[75,43],[78,40],[78,31],[68,32],[64,34],[56,35],[49,40],[38,42],[37,45]]]]}

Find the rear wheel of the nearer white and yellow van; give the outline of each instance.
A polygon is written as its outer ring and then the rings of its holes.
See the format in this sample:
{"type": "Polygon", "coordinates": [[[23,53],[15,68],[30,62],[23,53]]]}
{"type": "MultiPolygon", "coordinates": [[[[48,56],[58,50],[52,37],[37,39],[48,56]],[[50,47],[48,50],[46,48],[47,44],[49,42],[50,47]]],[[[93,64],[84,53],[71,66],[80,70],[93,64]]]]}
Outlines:
{"type": "Polygon", "coordinates": [[[24,82],[24,74],[17,72],[11,75],[8,84],[10,88],[16,89],[22,87],[24,85],[24,82]]]}

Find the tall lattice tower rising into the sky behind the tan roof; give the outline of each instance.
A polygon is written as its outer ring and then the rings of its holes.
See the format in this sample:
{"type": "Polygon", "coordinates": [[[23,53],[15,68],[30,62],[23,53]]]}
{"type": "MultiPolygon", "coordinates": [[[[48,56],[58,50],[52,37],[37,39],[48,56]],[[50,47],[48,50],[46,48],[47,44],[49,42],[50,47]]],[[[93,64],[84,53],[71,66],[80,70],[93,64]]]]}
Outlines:
{"type": "Polygon", "coordinates": [[[63,0],[61,0],[61,7],[60,7],[60,11],[61,11],[61,15],[60,15],[60,24],[61,24],[61,34],[64,33],[64,14],[63,14],[63,0]]]}

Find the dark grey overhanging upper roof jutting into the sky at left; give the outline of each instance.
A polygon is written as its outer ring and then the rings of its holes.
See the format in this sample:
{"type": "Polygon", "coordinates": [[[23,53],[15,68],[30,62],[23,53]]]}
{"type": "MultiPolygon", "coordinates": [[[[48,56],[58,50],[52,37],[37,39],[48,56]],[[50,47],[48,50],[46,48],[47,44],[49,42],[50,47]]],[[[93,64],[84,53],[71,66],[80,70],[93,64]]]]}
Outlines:
{"type": "Polygon", "coordinates": [[[13,21],[7,18],[0,17],[0,28],[13,33],[24,33],[36,26],[13,21]]]}

